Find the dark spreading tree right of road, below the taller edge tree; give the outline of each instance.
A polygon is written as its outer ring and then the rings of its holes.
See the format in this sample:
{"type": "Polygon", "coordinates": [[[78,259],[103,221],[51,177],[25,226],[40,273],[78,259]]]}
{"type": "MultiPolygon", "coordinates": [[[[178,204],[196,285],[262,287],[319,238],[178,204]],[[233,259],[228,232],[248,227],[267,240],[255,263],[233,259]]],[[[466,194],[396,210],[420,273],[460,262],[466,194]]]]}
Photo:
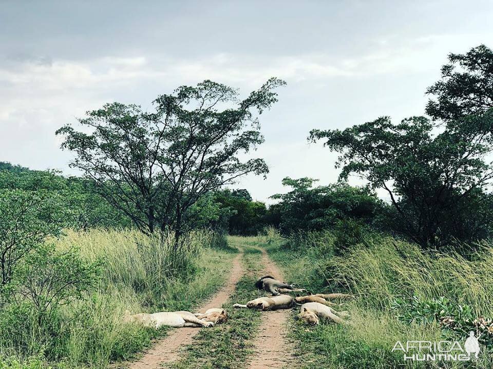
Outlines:
{"type": "MultiPolygon", "coordinates": [[[[341,153],[340,178],[356,174],[370,188],[385,189],[396,211],[400,231],[421,245],[451,237],[451,218],[461,218],[493,177],[485,157],[493,143],[493,113],[450,121],[440,134],[425,117],[394,125],[378,118],[345,130],[312,130],[310,139],[341,153]]],[[[484,224],[482,224],[484,226],[484,224]]]]}

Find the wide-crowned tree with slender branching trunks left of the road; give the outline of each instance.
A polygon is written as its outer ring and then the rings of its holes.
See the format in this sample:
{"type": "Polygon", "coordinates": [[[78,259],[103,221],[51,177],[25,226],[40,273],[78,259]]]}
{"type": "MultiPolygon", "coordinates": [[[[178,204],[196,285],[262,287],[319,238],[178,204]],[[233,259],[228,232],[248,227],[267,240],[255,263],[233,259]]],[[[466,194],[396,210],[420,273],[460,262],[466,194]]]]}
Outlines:
{"type": "Polygon", "coordinates": [[[107,104],[79,120],[92,133],[70,125],[56,133],[75,154],[71,166],[92,178],[112,206],[144,232],[174,231],[178,245],[201,196],[244,174],[268,172],[263,159],[239,155],[263,142],[254,113],[270,108],[282,85],[271,78],[239,100],[237,90],[205,80],[159,96],[152,113],[107,104]]]}

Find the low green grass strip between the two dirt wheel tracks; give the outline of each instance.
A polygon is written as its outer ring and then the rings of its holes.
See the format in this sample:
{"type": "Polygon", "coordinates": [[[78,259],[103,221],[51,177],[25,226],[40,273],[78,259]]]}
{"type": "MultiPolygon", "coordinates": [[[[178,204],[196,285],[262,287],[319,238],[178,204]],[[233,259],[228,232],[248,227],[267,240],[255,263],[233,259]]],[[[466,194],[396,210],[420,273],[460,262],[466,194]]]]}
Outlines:
{"type": "Polygon", "coordinates": [[[174,369],[242,368],[252,353],[251,340],[260,325],[261,312],[233,309],[233,304],[263,296],[262,292],[253,288],[261,268],[260,251],[248,247],[256,245],[251,239],[230,237],[230,241],[244,250],[242,262],[248,271],[237,283],[234,294],[223,305],[230,319],[212,329],[200,330],[195,336],[195,342],[187,347],[185,358],[174,363],[174,369]]]}

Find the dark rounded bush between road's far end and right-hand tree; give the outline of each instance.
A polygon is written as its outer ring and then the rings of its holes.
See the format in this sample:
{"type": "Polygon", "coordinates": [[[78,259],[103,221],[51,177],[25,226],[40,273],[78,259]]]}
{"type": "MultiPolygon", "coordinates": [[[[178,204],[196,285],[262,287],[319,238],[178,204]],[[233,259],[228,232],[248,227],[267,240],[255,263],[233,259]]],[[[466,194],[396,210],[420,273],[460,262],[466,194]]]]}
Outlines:
{"type": "Polygon", "coordinates": [[[332,228],[342,219],[371,223],[384,207],[376,196],[364,188],[351,187],[346,183],[313,187],[314,182],[311,178],[286,177],[282,184],[292,190],[271,196],[280,200],[270,211],[279,213],[282,233],[332,228]]]}

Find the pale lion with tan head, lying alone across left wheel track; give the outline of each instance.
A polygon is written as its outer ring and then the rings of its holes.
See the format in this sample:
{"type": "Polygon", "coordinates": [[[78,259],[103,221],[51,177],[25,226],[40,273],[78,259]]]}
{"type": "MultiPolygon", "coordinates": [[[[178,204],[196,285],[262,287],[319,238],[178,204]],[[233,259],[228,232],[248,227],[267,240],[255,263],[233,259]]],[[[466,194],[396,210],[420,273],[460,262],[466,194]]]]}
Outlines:
{"type": "MultiPolygon", "coordinates": [[[[210,309],[213,310],[213,309],[210,309]]],[[[203,314],[200,314],[200,319],[187,311],[177,312],[159,312],[154,314],[134,314],[131,315],[127,310],[123,316],[124,322],[137,322],[145,327],[159,329],[162,326],[170,327],[208,327],[214,325],[216,322],[225,321],[226,312],[223,309],[220,311],[209,310],[203,314]]],[[[199,313],[197,313],[199,314],[199,313]]]]}

